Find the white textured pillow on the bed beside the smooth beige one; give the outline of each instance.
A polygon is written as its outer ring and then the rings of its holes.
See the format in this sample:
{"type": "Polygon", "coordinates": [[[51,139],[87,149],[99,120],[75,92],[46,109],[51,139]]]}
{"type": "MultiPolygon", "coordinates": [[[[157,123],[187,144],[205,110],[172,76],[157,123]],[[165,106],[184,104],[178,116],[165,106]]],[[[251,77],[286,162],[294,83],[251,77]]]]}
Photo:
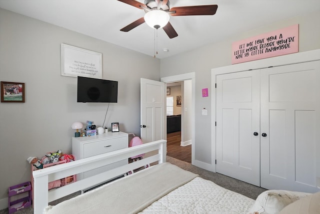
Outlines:
{"type": "Polygon", "coordinates": [[[257,196],[249,213],[255,211],[263,214],[278,213],[286,205],[309,194],[287,190],[266,190],[257,196]]]}

